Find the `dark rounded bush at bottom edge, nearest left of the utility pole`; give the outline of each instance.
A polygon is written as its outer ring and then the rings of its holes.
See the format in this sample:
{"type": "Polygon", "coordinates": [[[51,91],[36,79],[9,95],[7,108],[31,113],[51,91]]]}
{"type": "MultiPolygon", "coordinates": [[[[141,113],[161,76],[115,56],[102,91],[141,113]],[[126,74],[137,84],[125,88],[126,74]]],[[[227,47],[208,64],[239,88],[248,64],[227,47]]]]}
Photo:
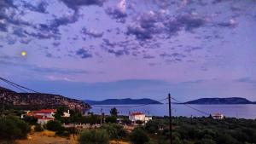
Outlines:
{"type": "Polygon", "coordinates": [[[141,128],[131,131],[131,141],[133,144],[146,144],[149,141],[147,133],[141,128]]]}

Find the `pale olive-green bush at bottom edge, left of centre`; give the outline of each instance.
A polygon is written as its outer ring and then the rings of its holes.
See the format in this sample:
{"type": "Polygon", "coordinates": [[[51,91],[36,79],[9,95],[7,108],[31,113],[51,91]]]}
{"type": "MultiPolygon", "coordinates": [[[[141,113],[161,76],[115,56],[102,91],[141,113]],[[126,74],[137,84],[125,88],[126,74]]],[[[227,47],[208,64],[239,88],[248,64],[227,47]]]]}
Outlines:
{"type": "Polygon", "coordinates": [[[106,130],[84,130],[79,135],[79,144],[108,144],[106,130]]]}

